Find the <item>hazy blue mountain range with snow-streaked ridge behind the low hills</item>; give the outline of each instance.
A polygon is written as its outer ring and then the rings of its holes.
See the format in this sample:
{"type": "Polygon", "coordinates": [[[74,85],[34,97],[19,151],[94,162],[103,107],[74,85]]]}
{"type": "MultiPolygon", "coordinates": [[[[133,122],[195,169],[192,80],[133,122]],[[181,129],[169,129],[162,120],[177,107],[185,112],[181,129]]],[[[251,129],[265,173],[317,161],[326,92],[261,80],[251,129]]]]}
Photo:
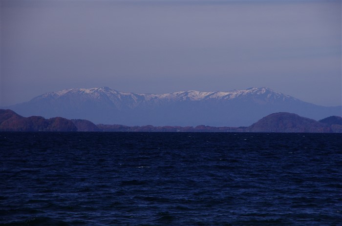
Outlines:
{"type": "Polygon", "coordinates": [[[99,124],[248,126],[265,115],[290,112],[320,120],[342,115],[341,106],[300,101],[270,88],[167,94],[119,92],[109,87],[65,89],[7,106],[28,117],[86,119],[99,124]]]}

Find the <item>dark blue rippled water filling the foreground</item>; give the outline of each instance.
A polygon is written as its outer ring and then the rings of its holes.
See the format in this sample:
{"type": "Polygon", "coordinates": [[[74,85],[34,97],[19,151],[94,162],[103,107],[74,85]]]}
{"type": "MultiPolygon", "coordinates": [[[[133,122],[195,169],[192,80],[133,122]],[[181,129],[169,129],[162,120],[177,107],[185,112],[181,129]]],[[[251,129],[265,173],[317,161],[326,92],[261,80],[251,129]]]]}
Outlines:
{"type": "Polygon", "coordinates": [[[341,134],[2,132],[0,161],[0,225],[342,225],[341,134]]]}

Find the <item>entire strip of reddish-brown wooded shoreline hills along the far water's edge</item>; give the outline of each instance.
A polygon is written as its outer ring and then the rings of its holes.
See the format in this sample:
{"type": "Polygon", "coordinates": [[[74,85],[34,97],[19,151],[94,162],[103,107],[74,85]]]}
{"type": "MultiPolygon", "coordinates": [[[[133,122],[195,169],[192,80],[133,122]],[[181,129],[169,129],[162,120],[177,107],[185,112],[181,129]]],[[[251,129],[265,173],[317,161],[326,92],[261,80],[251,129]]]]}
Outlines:
{"type": "Polygon", "coordinates": [[[341,133],[342,118],[330,116],[316,121],[299,115],[279,112],[270,114],[245,127],[198,126],[126,126],[97,124],[82,119],[61,117],[45,119],[41,116],[23,117],[12,110],[0,109],[0,131],[104,131],[104,132],[303,132],[341,133]]]}

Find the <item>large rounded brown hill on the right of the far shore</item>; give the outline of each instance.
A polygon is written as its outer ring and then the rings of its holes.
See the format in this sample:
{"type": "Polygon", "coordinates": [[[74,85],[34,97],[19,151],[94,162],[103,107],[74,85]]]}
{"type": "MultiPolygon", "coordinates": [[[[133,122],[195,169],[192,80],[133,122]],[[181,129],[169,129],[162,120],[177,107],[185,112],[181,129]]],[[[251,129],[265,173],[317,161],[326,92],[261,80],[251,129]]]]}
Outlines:
{"type": "Polygon", "coordinates": [[[327,124],[288,112],[270,114],[249,126],[248,130],[250,132],[333,132],[327,124]]]}

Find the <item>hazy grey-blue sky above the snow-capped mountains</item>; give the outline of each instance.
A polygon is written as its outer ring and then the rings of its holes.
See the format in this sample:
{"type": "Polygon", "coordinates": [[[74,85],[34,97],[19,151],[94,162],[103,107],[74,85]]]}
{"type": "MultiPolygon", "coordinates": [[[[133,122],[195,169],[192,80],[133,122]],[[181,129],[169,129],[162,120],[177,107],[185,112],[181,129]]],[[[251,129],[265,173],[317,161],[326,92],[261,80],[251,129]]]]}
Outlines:
{"type": "Polygon", "coordinates": [[[341,0],[1,0],[0,105],[66,88],[342,103],[341,0]]]}

